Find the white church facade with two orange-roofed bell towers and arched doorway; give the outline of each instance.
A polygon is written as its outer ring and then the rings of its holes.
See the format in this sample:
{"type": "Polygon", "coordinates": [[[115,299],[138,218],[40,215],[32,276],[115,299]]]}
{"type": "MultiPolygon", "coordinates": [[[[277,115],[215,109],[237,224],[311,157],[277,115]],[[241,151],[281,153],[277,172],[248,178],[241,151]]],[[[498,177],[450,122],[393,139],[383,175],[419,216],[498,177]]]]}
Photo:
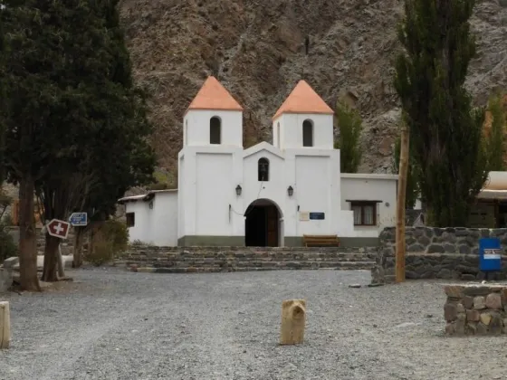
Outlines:
{"type": "Polygon", "coordinates": [[[300,81],[273,117],[273,145],[243,147],[243,108],[214,77],[187,109],[178,155],[178,245],[301,245],[352,232],[341,210],[333,111],[300,81]]]}

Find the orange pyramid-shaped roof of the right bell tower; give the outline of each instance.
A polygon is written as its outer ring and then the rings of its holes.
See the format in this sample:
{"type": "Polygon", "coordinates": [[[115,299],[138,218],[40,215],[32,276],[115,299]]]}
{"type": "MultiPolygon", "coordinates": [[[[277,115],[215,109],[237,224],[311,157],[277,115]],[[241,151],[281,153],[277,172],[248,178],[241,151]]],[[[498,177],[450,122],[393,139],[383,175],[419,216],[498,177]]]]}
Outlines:
{"type": "Polygon", "coordinates": [[[291,94],[276,111],[273,119],[278,118],[282,113],[323,113],[334,114],[330,106],[326,104],[317,92],[315,92],[306,81],[299,81],[291,94]]]}

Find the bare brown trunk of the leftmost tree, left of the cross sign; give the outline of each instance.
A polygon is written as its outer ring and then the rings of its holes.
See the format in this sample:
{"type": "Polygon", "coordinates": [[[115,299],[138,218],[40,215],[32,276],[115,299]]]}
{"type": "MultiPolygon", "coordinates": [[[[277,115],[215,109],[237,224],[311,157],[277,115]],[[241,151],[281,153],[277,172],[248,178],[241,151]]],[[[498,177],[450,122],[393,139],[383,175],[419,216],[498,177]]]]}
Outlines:
{"type": "Polygon", "coordinates": [[[19,182],[19,281],[22,290],[41,291],[37,278],[37,233],[33,218],[32,176],[19,182]]]}

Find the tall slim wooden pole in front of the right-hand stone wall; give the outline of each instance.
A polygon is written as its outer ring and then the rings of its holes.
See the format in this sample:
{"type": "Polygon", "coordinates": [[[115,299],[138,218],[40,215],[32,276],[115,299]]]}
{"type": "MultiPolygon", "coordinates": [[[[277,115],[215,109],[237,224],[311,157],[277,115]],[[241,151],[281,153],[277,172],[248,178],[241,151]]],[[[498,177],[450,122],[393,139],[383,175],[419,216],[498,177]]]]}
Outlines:
{"type": "Polygon", "coordinates": [[[407,195],[409,136],[407,124],[401,127],[399,173],[397,182],[396,281],[405,281],[405,200],[407,195]]]}

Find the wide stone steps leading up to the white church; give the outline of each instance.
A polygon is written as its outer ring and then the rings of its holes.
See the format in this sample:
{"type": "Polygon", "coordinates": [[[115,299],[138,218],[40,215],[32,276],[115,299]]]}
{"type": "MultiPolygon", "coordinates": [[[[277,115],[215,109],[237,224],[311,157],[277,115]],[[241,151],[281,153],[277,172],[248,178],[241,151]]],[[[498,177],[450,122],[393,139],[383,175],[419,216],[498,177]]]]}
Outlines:
{"type": "Polygon", "coordinates": [[[377,248],[132,247],[117,265],[165,273],[279,270],[371,270],[377,248]]]}

